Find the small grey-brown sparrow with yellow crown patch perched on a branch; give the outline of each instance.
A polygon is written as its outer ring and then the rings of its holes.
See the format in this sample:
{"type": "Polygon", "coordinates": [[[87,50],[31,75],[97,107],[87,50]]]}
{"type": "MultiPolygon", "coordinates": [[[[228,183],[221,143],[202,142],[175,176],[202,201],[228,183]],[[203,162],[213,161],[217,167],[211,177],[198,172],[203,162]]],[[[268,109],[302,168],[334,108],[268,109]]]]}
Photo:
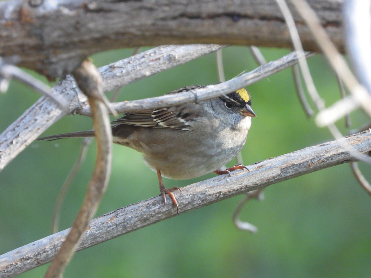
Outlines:
{"type": "MultiPolygon", "coordinates": [[[[203,87],[187,86],[167,95],[203,87]]],[[[157,172],[164,205],[166,195],[169,195],[178,213],[179,206],[173,192],[178,190],[181,193],[181,189],[177,186],[167,189],[162,176],[191,179],[211,172],[230,175],[231,171],[247,169],[240,164],[225,170],[220,168],[244,146],[252,117],[256,115],[251,108],[250,93],[242,88],[198,103],[124,113],[111,123],[112,139],[113,143],[143,153],[145,163],[157,172]]],[[[89,130],[51,135],[38,140],[93,136],[94,131],[89,130]]]]}

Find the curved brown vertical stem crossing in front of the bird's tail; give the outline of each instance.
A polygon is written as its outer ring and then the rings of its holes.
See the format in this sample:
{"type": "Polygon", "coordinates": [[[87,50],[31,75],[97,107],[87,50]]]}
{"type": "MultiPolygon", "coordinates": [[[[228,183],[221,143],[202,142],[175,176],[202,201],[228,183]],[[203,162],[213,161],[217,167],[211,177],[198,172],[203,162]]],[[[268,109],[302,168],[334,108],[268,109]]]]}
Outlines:
{"type": "Polygon", "coordinates": [[[89,181],[83,204],[78,216],[73,222],[72,228],[66,240],[55,258],[50,264],[45,278],[59,277],[81,241],[82,235],[88,227],[89,221],[98,209],[99,201],[108,184],[111,173],[112,160],[112,134],[109,123],[108,109],[102,102],[103,88],[102,79],[96,67],[90,60],[85,60],[73,72],[79,88],[88,96],[89,104],[92,107],[93,126],[97,142],[97,158],[95,169],[89,181]]]}

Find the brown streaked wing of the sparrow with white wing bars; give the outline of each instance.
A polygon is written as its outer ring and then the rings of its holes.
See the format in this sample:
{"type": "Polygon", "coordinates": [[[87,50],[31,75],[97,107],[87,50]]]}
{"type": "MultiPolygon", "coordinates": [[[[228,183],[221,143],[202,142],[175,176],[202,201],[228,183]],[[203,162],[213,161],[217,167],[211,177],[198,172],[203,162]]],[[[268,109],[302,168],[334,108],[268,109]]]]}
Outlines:
{"type": "MultiPolygon", "coordinates": [[[[170,92],[175,94],[190,89],[204,87],[202,85],[188,86],[170,92]]],[[[112,123],[123,123],[125,125],[145,126],[148,128],[175,128],[189,130],[189,121],[198,116],[203,116],[203,109],[194,104],[184,104],[169,108],[155,110],[142,110],[139,112],[125,113],[121,118],[112,123]]]]}

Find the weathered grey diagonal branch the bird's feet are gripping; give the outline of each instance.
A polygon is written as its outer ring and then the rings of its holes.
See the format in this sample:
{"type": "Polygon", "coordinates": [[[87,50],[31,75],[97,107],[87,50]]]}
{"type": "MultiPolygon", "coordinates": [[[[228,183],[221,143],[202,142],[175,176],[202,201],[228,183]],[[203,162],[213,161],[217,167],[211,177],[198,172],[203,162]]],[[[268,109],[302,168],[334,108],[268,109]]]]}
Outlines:
{"type": "MultiPolygon", "coordinates": [[[[250,165],[250,172],[237,171],[230,177],[218,176],[183,187],[182,194],[177,195],[179,214],[273,183],[357,160],[344,149],[344,143],[371,155],[371,134],[366,131],[348,136],[342,142],[322,143],[267,159],[250,165]]],[[[90,222],[78,250],[178,215],[171,208],[171,202],[163,206],[162,197],[156,196],[95,218],[90,222]]],[[[1,255],[0,276],[17,275],[50,262],[68,232],[69,229],[66,229],[1,255]]]]}

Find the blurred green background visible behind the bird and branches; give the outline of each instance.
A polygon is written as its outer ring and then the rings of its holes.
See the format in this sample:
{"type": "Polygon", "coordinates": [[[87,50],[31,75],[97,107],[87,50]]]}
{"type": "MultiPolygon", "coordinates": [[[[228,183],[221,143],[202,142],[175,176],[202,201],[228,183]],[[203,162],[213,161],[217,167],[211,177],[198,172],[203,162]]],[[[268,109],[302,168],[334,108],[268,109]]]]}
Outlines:
{"type": "MultiPolygon", "coordinates": [[[[262,52],[270,61],[289,50],[262,52]]],[[[131,53],[132,49],[115,50],[99,53],[93,60],[102,66],[131,53]]],[[[227,79],[257,67],[247,47],[224,49],[223,61],[227,79]]],[[[309,65],[319,93],[331,105],[339,99],[334,75],[320,55],[309,59],[309,65]]],[[[210,54],[123,87],[118,100],[159,96],[179,87],[218,81],[216,55],[210,54]]],[[[252,120],[242,150],[246,165],[332,140],[328,130],[306,118],[290,69],[247,89],[257,118],[252,120]]],[[[10,90],[0,96],[1,131],[38,98],[29,88],[12,82],[10,90]]],[[[362,112],[352,113],[351,119],[353,128],[367,121],[362,112]]],[[[91,126],[88,117],[66,116],[44,135],[91,126]]],[[[338,126],[347,133],[343,120],[338,126]]],[[[50,234],[56,197],[81,142],[33,142],[0,173],[0,254],[50,234]]],[[[67,192],[60,229],[72,224],[94,162],[95,146],[91,145],[67,192]]],[[[360,166],[370,181],[370,165],[360,166]]],[[[212,176],[165,179],[165,185],[185,186],[212,176]]],[[[156,173],[144,165],[140,153],[114,145],[111,179],[96,215],[158,193],[156,173]]],[[[355,181],[349,165],[266,188],[265,200],[250,201],[241,214],[242,220],[258,227],[257,234],[239,231],[233,224],[233,212],[243,198],[214,203],[80,251],[65,277],[370,277],[371,199],[355,181]]],[[[47,266],[19,277],[42,277],[47,266]]]]}

